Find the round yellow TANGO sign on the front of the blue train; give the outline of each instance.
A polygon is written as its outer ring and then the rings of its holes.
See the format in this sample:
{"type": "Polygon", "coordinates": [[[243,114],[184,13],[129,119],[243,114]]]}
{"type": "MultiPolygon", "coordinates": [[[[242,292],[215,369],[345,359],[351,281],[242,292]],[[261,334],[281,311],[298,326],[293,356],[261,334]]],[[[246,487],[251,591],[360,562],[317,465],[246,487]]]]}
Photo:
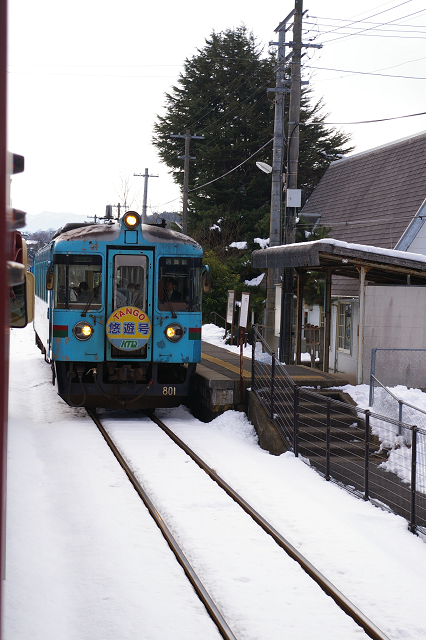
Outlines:
{"type": "Polygon", "coordinates": [[[151,337],[151,322],[137,307],[120,307],[108,318],[108,340],[121,351],[135,351],[151,337]]]}

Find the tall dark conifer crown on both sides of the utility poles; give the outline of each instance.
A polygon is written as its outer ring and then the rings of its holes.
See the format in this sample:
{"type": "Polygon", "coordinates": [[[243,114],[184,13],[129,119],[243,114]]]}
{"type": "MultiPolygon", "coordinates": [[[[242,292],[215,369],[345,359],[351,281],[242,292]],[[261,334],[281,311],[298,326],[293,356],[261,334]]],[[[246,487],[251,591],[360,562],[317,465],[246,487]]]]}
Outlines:
{"type": "MultiPolygon", "coordinates": [[[[171,134],[204,135],[191,141],[189,176],[190,232],[228,221],[242,234],[256,233],[258,212],[270,206],[271,181],[256,167],[256,160],[272,164],[272,143],[249,162],[268,140],[274,128],[273,94],[275,60],[262,56],[253,34],[244,25],[213,32],[206,45],[184,64],[177,86],[166,94],[165,115],[157,116],[153,144],[175,182],[183,185],[184,140],[171,134]]],[[[322,102],[310,104],[309,90],[302,91],[300,113],[299,186],[305,201],[332,160],[347,153],[349,137],[322,124],[322,102]]],[[[285,106],[288,111],[288,100],[285,106]]],[[[286,122],[288,117],[286,117],[286,122]]],[[[269,235],[269,219],[266,231],[269,235]]],[[[267,237],[267,236],[263,236],[267,237]]],[[[241,238],[234,238],[241,239],[241,238]]],[[[244,236],[245,239],[245,236],[244,236]]]]}

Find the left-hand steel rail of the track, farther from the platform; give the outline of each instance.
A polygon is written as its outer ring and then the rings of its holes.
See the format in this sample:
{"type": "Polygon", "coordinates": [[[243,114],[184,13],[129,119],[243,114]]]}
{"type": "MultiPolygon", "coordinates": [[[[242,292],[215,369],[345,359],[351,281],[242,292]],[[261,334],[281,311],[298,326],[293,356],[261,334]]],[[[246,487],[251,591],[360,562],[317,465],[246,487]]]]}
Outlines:
{"type": "Polygon", "coordinates": [[[138,493],[139,497],[144,502],[144,504],[145,504],[146,508],[148,509],[148,511],[149,511],[150,515],[152,516],[152,518],[155,520],[155,523],[157,524],[157,526],[159,527],[161,533],[163,534],[164,538],[166,539],[167,544],[169,545],[169,547],[171,548],[171,550],[175,554],[177,561],[179,562],[179,564],[183,568],[187,578],[189,579],[189,581],[191,582],[192,586],[194,587],[195,592],[197,593],[197,595],[200,598],[201,602],[206,607],[210,617],[212,618],[212,620],[216,624],[220,634],[222,635],[223,638],[225,638],[225,640],[237,640],[235,635],[233,634],[232,630],[230,629],[228,623],[226,622],[225,618],[222,616],[220,610],[218,609],[218,607],[214,603],[212,597],[210,596],[210,594],[208,593],[208,591],[206,590],[206,588],[202,584],[201,580],[198,578],[198,576],[195,573],[194,569],[192,568],[191,564],[189,563],[189,561],[187,560],[186,556],[184,555],[182,549],[179,547],[178,543],[174,539],[174,537],[173,537],[172,533],[170,532],[169,528],[167,527],[167,525],[163,521],[161,515],[158,513],[157,509],[155,508],[154,503],[151,501],[151,499],[149,498],[147,492],[145,491],[143,486],[140,484],[140,482],[135,478],[135,476],[133,474],[133,471],[131,470],[130,466],[127,464],[126,460],[124,459],[124,457],[122,456],[120,450],[118,449],[118,447],[116,446],[116,444],[114,443],[114,441],[112,440],[112,438],[110,437],[108,432],[106,431],[105,427],[102,425],[100,420],[97,418],[97,416],[90,409],[86,409],[86,411],[89,414],[89,416],[92,418],[93,422],[98,427],[98,429],[101,432],[101,434],[103,435],[106,443],[110,447],[110,449],[113,452],[114,456],[117,458],[118,462],[120,463],[121,467],[123,468],[124,472],[126,473],[127,477],[129,478],[130,482],[132,483],[134,489],[136,490],[136,492],[138,493]]]}

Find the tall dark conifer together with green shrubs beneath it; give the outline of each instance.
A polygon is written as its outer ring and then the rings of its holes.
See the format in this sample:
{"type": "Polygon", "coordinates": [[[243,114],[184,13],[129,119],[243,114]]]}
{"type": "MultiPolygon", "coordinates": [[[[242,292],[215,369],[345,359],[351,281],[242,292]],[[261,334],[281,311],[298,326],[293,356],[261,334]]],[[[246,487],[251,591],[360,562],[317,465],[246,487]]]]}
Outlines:
{"type": "MultiPolygon", "coordinates": [[[[269,236],[271,180],[256,161],[272,164],[272,142],[245,161],[273,138],[274,94],[267,89],[275,86],[275,64],[244,25],[213,32],[205,46],[185,60],[176,86],[166,94],[164,115],[154,124],[153,144],[181,186],[179,156],[184,155],[185,141],[170,135],[186,130],[204,135],[204,140],[191,140],[190,154],[196,159],[190,163],[188,228],[203,246],[213,276],[212,292],[204,296],[205,322],[212,321],[211,311],[225,315],[228,289],[237,291],[237,299],[242,291],[250,291],[256,321],[262,321],[266,291],[247,287],[244,280],[260,273],[251,269],[251,252],[259,248],[254,239],[269,236]],[[229,248],[235,241],[247,241],[247,250],[229,248]]],[[[288,106],[286,100],[286,123],[288,106]]],[[[323,124],[327,116],[322,108],[322,101],[311,104],[310,91],[302,90],[298,186],[303,203],[330,162],[351,150],[349,136],[323,124]]],[[[306,224],[299,224],[297,241],[328,234],[327,229],[313,230],[306,224]]],[[[308,295],[310,287],[307,284],[308,295]]],[[[311,288],[314,298],[321,296],[315,277],[311,288]]]]}

